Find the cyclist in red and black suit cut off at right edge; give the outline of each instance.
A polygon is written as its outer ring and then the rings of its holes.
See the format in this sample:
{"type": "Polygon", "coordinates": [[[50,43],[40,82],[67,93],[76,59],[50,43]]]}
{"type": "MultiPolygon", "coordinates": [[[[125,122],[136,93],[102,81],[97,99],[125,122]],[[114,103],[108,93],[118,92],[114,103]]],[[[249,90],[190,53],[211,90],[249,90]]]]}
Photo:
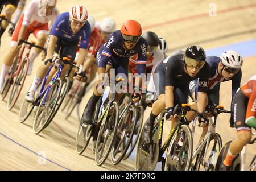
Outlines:
{"type": "Polygon", "coordinates": [[[234,158],[250,142],[251,127],[256,129],[256,75],[238,88],[233,103],[237,139],[230,143],[226,158],[220,165],[221,171],[229,171],[234,158]]]}

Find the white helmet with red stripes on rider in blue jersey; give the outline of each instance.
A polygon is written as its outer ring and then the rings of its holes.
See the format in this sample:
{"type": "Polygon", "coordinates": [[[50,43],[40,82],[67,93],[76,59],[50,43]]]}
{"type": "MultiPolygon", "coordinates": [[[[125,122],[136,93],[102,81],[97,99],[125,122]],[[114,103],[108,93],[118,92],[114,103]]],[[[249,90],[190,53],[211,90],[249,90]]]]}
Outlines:
{"type": "Polygon", "coordinates": [[[82,5],[75,5],[69,11],[69,18],[71,18],[71,20],[77,20],[78,22],[86,22],[88,11],[82,5]]]}

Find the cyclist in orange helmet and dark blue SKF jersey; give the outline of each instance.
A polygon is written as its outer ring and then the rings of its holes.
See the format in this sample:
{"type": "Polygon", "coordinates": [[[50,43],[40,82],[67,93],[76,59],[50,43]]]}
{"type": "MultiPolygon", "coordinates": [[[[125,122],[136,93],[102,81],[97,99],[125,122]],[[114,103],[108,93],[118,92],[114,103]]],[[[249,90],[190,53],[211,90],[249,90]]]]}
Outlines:
{"type": "MultiPolygon", "coordinates": [[[[105,75],[106,66],[109,60],[111,60],[112,67],[115,69],[115,75],[123,73],[127,77],[129,57],[137,53],[137,61],[139,63],[137,67],[138,74],[144,73],[147,59],[147,42],[144,38],[141,38],[141,34],[141,24],[135,20],[127,20],[123,23],[121,30],[110,34],[108,41],[97,52],[98,75],[105,75]]],[[[82,122],[85,124],[92,124],[93,110],[102,94],[98,92],[97,85],[103,81],[102,78],[99,78],[96,85],[94,85],[93,95],[90,97],[82,117],[82,122]]]]}

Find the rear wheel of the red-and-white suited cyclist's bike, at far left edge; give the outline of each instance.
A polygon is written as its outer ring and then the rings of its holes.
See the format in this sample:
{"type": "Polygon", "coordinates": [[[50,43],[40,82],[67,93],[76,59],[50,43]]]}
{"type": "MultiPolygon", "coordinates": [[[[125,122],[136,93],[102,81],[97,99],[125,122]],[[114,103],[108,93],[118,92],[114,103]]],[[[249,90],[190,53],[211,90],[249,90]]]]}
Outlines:
{"type": "Polygon", "coordinates": [[[17,63],[18,63],[18,56],[15,57],[15,61],[13,65],[11,65],[10,71],[5,76],[5,82],[3,83],[2,90],[1,90],[1,100],[5,99],[11,87],[11,84],[13,84],[13,74],[16,70],[17,63]]]}

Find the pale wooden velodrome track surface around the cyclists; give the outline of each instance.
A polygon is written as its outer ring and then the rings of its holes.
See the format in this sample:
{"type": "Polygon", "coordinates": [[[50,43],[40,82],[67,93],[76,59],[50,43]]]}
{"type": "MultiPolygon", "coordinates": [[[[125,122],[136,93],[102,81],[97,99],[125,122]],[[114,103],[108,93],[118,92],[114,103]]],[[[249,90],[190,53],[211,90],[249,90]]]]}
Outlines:
{"type": "MultiPolygon", "coordinates": [[[[28,1],[30,2],[30,1],[28,1]]],[[[208,15],[209,3],[213,1],[81,1],[59,0],[57,7],[61,12],[69,11],[76,4],[83,4],[96,20],[111,16],[117,22],[117,28],[127,19],[141,23],[143,31],[154,31],[163,36],[169,43],[169,52],[184,49],[189,44],[200,44],[205,49],[217,48],[227,44],[238,43],[256,38],[256,1],[220,1],[215,0],[217,16],[208,15]]],[[[9,51],[10,37],[7,32],[1,39],[0,57],[9,51]]],[[[31,36],[31,39],[32,38],[31,36]]],[[[239,50],[237,50],[239,51],[239,50]]],[[[255,56],[245,57],[242,67],[242,84],[256,73],[255,56]]],[[[220,55],[216,55],[220,56],[220,55]]],[[[134,160],[126,160],[113,166],[107,160],[101,167],[96,166],[94,154],[89,146],[84,154],[78,155],[75,150],[75,139],[78,127],[76,113],[68,120],[59,111],[51,125],[39,135],[32,132],[32,119],[24,124],[19,123],[18,113],[24,93],[31,84],[40,59],[36,59],[31,76],[27,77],[22,94],[13,110],[6,109],[6,100],[0,101],[0,169],[1,170],[131,170],[134,160]],[[46,162],[38,153],[46,155],[46,162]]],[[[226,109],[230,107],[231,82],[221,84],[220,103],[226,109]]],[[[92,89],[88,90],[81,104],[84,109],[92,89]]],[[[150,109],[145,112],[148,116],[150,109]]],[[[144,121],[147,118],[144,118],[144,121]]],[[[166,122],[167,123],[167,122],[166,122]]],[[[168,124],[168,123],[167,123],[168,124]]],[[[167,125],[166,124],[166,125],[167,125]]],[[[166,127],[166,129],[168,126],[166,127]]],[[[196,128],[195,144],[200,135],[196,128]]],[[[236,130],[229,127],[229,115],[220,115],[216,131],[223,142],[236,138],[236,130]]],[[[167,132],[167,130],[166,130],[167,132]]],[[[195,147],[194,147],[195,148],[195,147]]],[[[246,168],[255,155],[256,145],[247,147],[246,168]]]]}

